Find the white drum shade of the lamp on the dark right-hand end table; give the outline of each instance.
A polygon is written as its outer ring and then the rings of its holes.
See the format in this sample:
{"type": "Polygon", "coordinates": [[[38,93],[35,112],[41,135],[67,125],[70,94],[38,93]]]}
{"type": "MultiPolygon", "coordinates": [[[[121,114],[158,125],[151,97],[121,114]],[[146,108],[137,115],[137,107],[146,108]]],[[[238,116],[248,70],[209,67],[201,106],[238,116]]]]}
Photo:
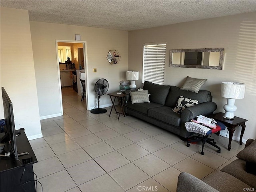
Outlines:
{"type": "Polygon", "coordinates": [[[221,84],[221,96],[230,99],[242,99],[245,93],[244,83],[223,82],[221,84]]]}

